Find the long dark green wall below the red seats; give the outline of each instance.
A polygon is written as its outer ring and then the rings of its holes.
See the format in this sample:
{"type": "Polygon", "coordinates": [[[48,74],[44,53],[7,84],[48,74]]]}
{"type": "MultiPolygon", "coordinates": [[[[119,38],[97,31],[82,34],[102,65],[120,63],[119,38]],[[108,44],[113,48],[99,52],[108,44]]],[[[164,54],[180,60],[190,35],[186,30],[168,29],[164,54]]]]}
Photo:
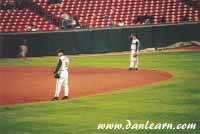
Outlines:
{"type": "Polygon", "coordinates": [[[58,48],[63,48],[66,54],[127,51],[130,48],[128,37],[132,32],[138,35],[141,49],[164,47],[179,41],[200,40],[200,22],[106,29],[0,33],[0,57],[16,57],[23,39],[27,40],[29,56],[55,55],[58,48]]]}

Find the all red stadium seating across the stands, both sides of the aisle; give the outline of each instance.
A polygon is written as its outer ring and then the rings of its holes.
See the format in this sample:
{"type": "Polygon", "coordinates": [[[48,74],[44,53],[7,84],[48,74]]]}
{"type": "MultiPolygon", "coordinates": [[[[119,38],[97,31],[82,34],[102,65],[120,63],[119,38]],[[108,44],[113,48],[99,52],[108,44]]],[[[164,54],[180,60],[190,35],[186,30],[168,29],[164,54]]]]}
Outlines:
{"type": "MultiPolygon", "coordinates": [[[[15,0],[3,1],[6,4],[15,0]]],[[[137,17],[144,15],[153,16],[153,24],[161,23],[163,17],[166,23],[179,23],[184,16],[188,21],[200,21],[200,10],[182,0],[63,0],[61,4],[32,0],[31,6],[23,10],[0,10],[0,32],[23,32],[33,23],[39,31],[60,30],[58,23],[53,22],[60,22],[63,12],[76,17],[81,25],[89,28],[108,27],[119,22],[134,26],[137,17]],[[47,21],[44,16],[52,21],[47,21]]]]}

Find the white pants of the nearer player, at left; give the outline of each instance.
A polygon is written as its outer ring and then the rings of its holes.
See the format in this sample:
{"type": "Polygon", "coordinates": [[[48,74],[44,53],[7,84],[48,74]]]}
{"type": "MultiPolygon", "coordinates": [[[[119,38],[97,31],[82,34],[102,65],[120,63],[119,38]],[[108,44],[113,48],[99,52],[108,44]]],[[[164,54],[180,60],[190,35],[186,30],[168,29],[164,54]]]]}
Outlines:
{"type": "Polygon", "coordinates": [[[68,71],[60,71],[60,78],[56,79],[56,90],[55,97],[59,97],[61,88],[64,88],[64,95],[68,96],[69,86],[68,86],[68,71]]]}

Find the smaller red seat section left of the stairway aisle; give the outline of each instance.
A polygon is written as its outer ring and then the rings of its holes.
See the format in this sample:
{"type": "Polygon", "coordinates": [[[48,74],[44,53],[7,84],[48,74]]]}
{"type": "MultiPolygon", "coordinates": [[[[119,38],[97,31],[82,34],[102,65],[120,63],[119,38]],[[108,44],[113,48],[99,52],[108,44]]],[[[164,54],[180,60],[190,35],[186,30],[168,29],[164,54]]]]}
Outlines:
{"type": "Polygon", "coordinates": [[[30,9],[0,10],[0,18],[0,32],[24,32],[33,24],[38,31],[60,29],[30,9]]]}

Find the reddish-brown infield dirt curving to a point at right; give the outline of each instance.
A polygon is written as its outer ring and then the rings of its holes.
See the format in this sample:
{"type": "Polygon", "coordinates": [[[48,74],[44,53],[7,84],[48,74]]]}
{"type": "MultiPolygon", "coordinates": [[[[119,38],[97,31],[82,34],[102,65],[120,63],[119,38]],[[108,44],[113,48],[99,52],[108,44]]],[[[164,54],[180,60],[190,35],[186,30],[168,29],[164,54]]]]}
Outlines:
{"type": "MultiPolygon", "coordinates": [[[[49,101],[56,82],[52,72],[50,67],[0,67],[0,105],[49,101]]],[[[170,78],[167,72],[153,70],[70,68],[69,93],[77,98],[170,78]]]]}

